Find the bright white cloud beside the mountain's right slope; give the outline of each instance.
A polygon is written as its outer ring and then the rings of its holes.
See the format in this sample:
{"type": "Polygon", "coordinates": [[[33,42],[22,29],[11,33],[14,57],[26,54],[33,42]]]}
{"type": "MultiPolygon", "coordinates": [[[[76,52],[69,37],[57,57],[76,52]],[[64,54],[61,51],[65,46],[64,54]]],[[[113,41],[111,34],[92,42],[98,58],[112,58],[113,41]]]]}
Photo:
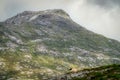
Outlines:
{"type": "Polygon", "coordinates": [[[82,1],[76,2],[70,8],[71,12],[69,13],[73,20],[96,33],[120,40],[119,6],[106,9],[82,1]]]}

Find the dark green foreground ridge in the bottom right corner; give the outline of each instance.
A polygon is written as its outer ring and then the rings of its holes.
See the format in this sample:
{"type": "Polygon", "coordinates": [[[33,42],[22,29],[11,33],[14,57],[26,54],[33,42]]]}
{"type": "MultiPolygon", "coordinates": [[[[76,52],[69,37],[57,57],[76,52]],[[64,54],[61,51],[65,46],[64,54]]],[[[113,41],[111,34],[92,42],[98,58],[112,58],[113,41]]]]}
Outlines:
{"type": "Polygon", "coordinates": [[[64,80],[120,80],[120,65],[102,66],[69,73],[64,80]]]}

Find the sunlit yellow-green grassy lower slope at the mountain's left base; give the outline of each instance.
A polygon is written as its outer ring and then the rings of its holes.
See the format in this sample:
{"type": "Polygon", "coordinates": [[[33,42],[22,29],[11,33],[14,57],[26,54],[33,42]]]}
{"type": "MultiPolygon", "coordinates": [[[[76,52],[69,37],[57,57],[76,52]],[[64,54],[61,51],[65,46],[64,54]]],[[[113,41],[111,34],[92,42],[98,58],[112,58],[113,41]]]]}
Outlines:
{"type": "Polygon", "coordinates": [[[62,58],[44,54],[0,51],[0,79],[34,79],[50,78],[65,73],[70,66],[77,66],[62,58]],[[67,65],[66,65],[67,64],[67,65]],[[60,67],[60,69],[59,69],[60,67]]]}

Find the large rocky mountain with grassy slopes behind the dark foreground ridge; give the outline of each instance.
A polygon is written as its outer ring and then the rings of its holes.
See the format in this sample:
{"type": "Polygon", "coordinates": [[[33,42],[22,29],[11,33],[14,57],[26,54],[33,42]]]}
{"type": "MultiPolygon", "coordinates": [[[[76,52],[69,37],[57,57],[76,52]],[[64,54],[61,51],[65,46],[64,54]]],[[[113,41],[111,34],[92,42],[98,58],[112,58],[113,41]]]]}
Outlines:
{"type": "Polygon", "coordinates": [[[24,11],[0,22],[2,80],[44,80],[69,68],[110,64],[120,64],[120,42],[78,25],[63,10],[24,11]]]}

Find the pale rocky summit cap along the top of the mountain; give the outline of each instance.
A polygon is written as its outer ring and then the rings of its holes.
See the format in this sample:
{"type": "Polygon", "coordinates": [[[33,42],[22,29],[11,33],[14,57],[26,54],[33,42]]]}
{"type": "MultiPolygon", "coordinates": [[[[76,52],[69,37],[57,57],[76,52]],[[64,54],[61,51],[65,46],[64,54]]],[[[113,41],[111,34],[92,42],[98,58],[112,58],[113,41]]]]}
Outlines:
{"type": "Polygon", "coordinates": [[[53,9],[53,10],[45,10],[45,11],[24,11],[20,14],[17,14],[16,16],[7,19],[5,22],[7,24],[15,24],[19,25],[24,22],[30,22],[32,20],[37,19],[39,16],[57,16],[57,17],[62,17],[66,19],[70,19],[70,16],[61,9],[53,9]]]}

